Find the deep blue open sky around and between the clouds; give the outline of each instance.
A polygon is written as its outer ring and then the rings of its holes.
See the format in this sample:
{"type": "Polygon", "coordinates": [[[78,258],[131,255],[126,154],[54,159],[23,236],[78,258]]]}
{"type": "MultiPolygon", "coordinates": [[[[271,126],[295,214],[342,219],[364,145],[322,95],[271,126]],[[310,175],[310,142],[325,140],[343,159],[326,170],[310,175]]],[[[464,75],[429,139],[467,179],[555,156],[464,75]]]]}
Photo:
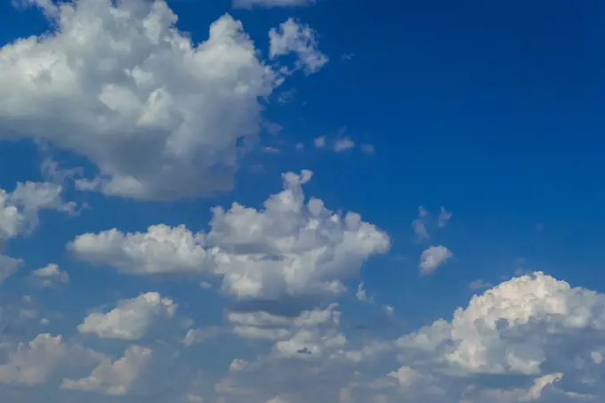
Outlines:
{"type": "MultiPolygon", "coordinates": [[[[157,222],[204,230],[211,206],[237,200],[259,207],[280,189],[280,173],[303,168],[315,173],[307,195],[358,212],[391,235],[391,253],[367,262],[361,278],[377,301],[404,313],[408,327],[451,317],[472,295],[472,280],[496,284],[517,269],[544,270],[605,291],[602,2],[319,0],[312,7],[252,12],[232,10],[228,1],[168,4],[194,41],[205,40],[208,25],[230,12],[265,55],[269,28],[294,17],[317,31],[330,61],[319,74],[295,77],[270,97],[263,116],[283,130],[263,133],[262,143],[281,153],[248,155],[232,192],[172,204],[79,195],[93,210],[77,219],[43,215],[35,236],[11,241],[7,252],[27,255],[28,267],[58,262],[85,285],[55,303],[86,301],[76,309],[85,314],[111,295],[156,285],[82,269],[64,248],[78,234],[145,230],[157,222]],[[278,94],[290,89],[294,101],[280,104],[278,94]],[[343,127],[375,153],[313,149],[312,139],[333,138],[343,127]],[[303,152],[293,147],[299,141],[303,152]],[[416,242],[411,228],[418,206],[433,216],[440,206],[453,213],[428,244],[416,242]],[[434,276],[419,278],[418,255],[429,244],[448,246],[455,258],[434,276]]],[[[36,10],[0,4],[0,44],[46,29],[36,10]]],[[[0,142],[0,188],[39,179],[39,159],[27,141],[0,142]]],[[[157,287],[197,293],[195,285],[157,287]]],[[[364,315],[359,310],[359,321],[364,315]]]]}

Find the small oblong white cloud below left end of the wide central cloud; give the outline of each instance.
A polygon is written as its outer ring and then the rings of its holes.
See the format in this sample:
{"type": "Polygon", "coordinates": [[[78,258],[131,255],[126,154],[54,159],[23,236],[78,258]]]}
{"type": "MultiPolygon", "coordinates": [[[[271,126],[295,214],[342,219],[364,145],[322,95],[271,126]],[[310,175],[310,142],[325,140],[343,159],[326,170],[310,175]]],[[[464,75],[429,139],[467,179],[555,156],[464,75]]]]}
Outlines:
{"type": "Polygon", "coordinates": [[[93,312],[77,326],[80,333],[96,334],[104,339],[138,340],[158,318],[173,318],[177,304],[158,293],[141,294],[117,302],[108,313],[93,312]]]}

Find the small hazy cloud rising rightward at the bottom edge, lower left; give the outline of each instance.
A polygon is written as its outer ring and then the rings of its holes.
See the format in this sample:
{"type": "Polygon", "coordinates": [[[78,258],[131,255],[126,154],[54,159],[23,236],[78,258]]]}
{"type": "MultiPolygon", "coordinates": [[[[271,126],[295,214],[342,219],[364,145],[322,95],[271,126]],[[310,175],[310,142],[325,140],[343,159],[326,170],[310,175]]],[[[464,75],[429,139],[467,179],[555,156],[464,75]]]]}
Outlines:
{"type": "Polygon", "coordinates": [[[115,361],[103,359],[91,375],[78,380],[64,379],[61,388],[124,396],[147,366],[151,353],[148,348],[132,345],[126,349],[123,357],[115,361]]]}

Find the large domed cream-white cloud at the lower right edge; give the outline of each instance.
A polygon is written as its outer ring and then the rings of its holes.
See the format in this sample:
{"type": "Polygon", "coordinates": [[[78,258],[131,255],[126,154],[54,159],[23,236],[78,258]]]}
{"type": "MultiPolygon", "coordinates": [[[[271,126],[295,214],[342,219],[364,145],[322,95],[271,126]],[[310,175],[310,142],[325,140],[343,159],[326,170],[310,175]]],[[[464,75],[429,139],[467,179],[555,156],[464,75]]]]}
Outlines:
{"type": "Polygon", "coordinates": [[[588,334],[604,329],[605,294],[536,272],[473,296],[451,322],[437,320],[400,338],[398,345],[404,361],[424,357],[470,374],[539,375],[548,360],[551,367],[562,365],[558,341],[575,349],[567,354],[589,349],[588,356],[594,343],[605,343],[588,334]]]}

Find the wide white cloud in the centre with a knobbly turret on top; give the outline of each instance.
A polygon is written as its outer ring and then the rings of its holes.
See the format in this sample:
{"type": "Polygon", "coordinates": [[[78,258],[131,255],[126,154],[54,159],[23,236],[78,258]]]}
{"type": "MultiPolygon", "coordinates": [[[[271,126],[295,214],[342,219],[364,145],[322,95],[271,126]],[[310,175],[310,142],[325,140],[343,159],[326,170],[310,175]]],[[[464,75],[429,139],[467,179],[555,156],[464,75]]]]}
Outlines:
{"type": "Polygon", "coordinates": [[[284,294],[339,294],[362,262],[385,253],[390,238],[359,214],[335,214],[318,198],[305,204],[311,172],[283,175],[284,190],[262,210],[234,203],[214,207],[211,230],[150,227],[146,233],[108,230],[69,244],[80,259],[124,273],[193,272],[222,277],[225,293],[275,299],[284,294]]]}

